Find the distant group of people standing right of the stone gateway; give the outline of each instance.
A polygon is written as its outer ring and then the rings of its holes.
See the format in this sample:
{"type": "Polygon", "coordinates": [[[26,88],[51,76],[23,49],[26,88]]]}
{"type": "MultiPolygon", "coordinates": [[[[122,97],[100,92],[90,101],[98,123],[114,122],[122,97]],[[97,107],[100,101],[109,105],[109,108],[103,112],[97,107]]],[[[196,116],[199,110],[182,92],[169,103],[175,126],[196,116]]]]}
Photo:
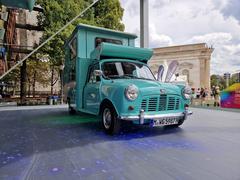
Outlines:
{"type": "Polygon", "coordinates": [[[198,88],[195,90],[192,88],[193,92],[193,98],[194,99],[200,99],[201,100],[201,105],[206,104],[206,99],[207,97],[213,97],[214,98],[214,106],[219,107],[220,106],[220,89],[218,86],[213,86],[211,91],[208,91],[207,88],[198,88]]]}

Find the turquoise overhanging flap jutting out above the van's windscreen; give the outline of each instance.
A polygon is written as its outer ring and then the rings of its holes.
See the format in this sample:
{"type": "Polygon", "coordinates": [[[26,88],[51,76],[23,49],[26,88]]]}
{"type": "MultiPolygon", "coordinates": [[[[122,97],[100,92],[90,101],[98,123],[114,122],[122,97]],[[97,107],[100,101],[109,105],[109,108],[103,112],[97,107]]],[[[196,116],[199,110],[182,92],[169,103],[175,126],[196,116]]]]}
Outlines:
{"type": "Polygon", "coordinates": [[[153,50],[147,48],[101,43],[101,45],[91,53],[91,58],[97,60],[101,60],[103,58],[123,58],[148,61],[152,55],[153,50]]]}

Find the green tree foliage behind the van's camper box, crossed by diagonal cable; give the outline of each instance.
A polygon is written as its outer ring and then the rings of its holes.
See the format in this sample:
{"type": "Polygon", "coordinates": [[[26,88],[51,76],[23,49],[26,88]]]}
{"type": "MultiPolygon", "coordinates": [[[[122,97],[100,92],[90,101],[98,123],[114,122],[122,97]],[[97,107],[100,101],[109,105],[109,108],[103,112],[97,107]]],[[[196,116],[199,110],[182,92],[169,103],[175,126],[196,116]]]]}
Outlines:
{"type": "MultiPolygon", "coordinates": [[[[93,0],[37,0],[36,4],[44,9],[44,12],[39,13],[37,17],[38,25],[44,29],[40,43],[55,34],[92,2],[93,0]]],[[[49,74],[50,67],[54,68],[54,72],[59,72],[59,65],[64,59],[64,43],[79,23],[123,31],[124,25],[121,22],[123,11],[119,0],[100,0],[38,51],[41,57],[48,57],[48,62],[39,61],[41,58],[37,58],[38,60],[34,57],[29,58],[27,61],[28,85],[33,87],[38,82],[44,86],[52,81],[51,73],[49,74]]],[[[17,82],[19,79],[20,72],[16,69],[4,80],[17,82]]]]}

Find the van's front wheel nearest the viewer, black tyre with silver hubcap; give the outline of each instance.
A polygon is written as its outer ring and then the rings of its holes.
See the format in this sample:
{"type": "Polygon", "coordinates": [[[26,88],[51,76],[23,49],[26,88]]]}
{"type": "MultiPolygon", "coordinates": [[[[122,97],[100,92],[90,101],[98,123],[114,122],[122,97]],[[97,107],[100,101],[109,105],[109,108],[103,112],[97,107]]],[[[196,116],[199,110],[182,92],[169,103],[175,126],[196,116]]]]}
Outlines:
{"type": "Polygon", "coordinates": [[[103,129],[107,134],[118,134],[121,129],[121,120],[118,119],[114,107],[106,103],[101,108],[101,122],[103,129]]]}

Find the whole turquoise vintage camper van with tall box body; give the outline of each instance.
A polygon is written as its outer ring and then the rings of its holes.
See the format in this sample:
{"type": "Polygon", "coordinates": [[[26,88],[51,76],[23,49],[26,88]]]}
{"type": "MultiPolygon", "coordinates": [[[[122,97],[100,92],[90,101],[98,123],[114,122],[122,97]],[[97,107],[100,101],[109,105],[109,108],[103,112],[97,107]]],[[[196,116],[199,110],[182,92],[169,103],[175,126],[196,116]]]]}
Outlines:
{"type": "Polygon", "coordinates": [[[133,34],[80,24],[65,44],[64,92],[70,113],[100,115],[109,134],[122,121],[179,126],[191,91],[158,82],[147,62],[151,49],[136,48],[133,34]]]}

